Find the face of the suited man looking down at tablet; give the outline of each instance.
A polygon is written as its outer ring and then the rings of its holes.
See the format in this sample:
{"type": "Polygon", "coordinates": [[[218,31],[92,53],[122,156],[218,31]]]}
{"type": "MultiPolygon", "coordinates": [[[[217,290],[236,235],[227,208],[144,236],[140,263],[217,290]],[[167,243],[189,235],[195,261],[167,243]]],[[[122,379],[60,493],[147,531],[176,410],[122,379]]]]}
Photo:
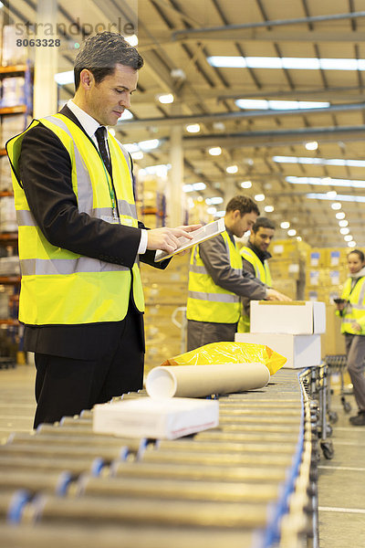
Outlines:
{"type": "Polygon", "coordinates": [[[113,74],[98,84],[91,73],[87,91],[90,116],[101,125],[115,125],[124,109],[130,108],[130,95],[137,88],[138,71],[117,64],[113,74]]]}

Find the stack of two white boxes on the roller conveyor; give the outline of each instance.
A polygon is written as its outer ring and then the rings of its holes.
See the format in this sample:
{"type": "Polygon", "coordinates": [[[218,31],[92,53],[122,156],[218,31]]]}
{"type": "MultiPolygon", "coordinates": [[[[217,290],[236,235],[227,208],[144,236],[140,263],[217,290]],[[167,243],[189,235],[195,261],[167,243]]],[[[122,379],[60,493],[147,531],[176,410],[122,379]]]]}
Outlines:
{"type": "Polygon", "coordinates": [[[326,332],[324,302],[251,301],[251,331],[236,333],[236,342],[266,344],[297,369],[321,362],[321,333],[326,332]]]}

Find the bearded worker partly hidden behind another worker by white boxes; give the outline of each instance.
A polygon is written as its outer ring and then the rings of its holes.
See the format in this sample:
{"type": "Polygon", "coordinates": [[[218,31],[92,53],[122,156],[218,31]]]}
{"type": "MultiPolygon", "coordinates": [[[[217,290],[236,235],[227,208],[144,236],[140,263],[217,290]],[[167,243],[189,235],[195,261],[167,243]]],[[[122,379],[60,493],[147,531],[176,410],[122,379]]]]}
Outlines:
{"type": "MultiPolygon", "coordinates": [[[[275,234],[275,225],[267,217],[259,216],[252,227],[247,244],[240,249],[242,266],[269,288],[272,286],[268,259],[271,253],[267,250],[275,234]]],[[[243,297],[241,317],[238,321],[237,332],[250,331],[250,299],[243,297]]]]}

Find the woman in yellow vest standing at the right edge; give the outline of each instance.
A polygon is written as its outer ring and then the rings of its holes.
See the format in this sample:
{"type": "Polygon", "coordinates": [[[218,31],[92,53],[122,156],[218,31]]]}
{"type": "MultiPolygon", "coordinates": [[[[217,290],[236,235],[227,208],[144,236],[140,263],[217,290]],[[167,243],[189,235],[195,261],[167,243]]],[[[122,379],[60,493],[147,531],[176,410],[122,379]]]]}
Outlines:
{"type": "Polygon", "coordinates": [[[345,335],[349,376],[359,408],[357,416],[349,422],[365,427],[365,256],[360,249],[348,255],[349,278],[343,286],[341,299],[336,306],[341,317],[341,332],[345,335]]]}

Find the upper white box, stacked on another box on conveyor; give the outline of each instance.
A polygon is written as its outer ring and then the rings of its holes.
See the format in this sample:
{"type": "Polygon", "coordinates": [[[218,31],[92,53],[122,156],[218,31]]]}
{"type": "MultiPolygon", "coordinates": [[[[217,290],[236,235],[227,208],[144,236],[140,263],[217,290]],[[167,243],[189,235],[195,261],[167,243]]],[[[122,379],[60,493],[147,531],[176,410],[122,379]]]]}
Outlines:
{"type": "Polygon", "coordinates": [[[326,332],[326,305],[312,300],[251,300],[250,332],[307,335],[326,332]]]}

